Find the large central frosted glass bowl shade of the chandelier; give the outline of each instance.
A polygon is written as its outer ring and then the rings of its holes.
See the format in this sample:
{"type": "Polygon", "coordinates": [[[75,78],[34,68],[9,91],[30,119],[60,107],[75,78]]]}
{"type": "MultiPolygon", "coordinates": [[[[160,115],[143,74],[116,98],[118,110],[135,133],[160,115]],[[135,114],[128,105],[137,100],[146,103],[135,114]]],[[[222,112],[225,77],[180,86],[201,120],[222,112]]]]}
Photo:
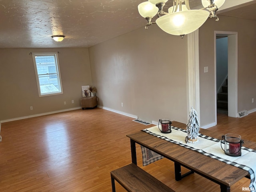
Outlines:
{"type": "Polygon", "coordinates": [[[161,16],[156,24],[166,33],[182,36],[200,28],[208,16],[206,10],[185,10],[161,16]]]}

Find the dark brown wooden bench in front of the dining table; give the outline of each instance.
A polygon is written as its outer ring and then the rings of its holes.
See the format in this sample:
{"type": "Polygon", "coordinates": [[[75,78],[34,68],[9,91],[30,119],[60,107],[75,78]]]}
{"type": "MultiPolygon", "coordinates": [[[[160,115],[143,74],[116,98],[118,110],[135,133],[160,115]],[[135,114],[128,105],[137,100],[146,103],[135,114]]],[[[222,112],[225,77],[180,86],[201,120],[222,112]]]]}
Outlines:
{"type": "Polygon", "coordinates": [[[174,192],[174,190],[133,163],[118,168],[110,174],[112,192],[116,192],[115,180],[128,192],[174,192]]]}

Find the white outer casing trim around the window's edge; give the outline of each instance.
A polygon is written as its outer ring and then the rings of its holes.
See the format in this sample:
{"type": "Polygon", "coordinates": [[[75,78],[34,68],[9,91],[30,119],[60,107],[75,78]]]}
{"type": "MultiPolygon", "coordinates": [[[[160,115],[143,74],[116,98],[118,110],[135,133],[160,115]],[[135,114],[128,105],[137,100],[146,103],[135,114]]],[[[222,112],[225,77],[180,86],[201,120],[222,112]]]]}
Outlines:
{"type": "Polygon", "coordinates": [[[60,63],[59,63],[59,58],[58,58],[58,52],[46,52],[46,53],[32,53],[32,58],[34,62],[34,70],[36,74],[36,83],[37,83],[37,88],[38,88],[38,95],[39,97],[44,97],[44,96],[52,96],[52,95],[59,95],[63,94],[63,88],[62,88],[62,80],[61,80],[61,75],[60,75],[60,63]],[[39,78],[38,78],[38,72],[37,72],[37,67],[36,67],[36,59],[35,56],[44,56],[44,55],[55,55],[56,58],[56,65],[57,65],[57,70],[58,70],[58,76],[60,80],[60,89],[61,92],[58,93],[48,93],[48,94],[41,94],[41,89],[40,89],[40,83],[39,83],[39,78]]]}

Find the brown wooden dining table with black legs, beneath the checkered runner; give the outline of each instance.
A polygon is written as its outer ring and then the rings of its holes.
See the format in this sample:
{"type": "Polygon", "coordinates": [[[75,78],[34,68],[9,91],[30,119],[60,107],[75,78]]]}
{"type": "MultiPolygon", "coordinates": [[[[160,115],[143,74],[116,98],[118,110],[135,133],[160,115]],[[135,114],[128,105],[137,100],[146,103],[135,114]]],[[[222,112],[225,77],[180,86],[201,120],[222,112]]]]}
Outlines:
{"type": "MultiPolygon", "coordinates": [[[[186,129],[186,124],[180,122],[172,122],[172,126],[186,129]]],[[[200,129],[200,134],[218,138],[221,140],[222,134],[213,132],[207,129],[200,129]]],[[[232,166],[205,156],[194,150],[184,148],[178,144],[168,142],[164,139],[158,138],[144,131],[134,132],[127,135],[130,138],[132,163],[137,164],[136,158],[136,143],[144,146],[165,158],[174,162],[175,179],[181,180],[183,177],[191,173],[197,173],[220,185],[221,192],[230,192],[230,186],[238,182],[243,177],[250,178],[248,171],[236,166],[232,166]],[[182,175],[181,166],[191,170],[182,175]]],[[[185,140],[185,138],[184,138],[185,140]]],[[[244,140],[243,146],[255,150],[256,143],[244,140]]]]}

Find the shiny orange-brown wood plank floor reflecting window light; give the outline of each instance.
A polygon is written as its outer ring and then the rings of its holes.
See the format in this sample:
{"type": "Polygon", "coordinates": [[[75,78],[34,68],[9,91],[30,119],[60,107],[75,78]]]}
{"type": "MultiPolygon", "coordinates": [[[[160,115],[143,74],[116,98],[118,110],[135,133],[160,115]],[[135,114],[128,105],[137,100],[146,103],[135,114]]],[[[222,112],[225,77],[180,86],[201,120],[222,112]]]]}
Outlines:
{"type": "MultiPolygon", "coordinates": [[[[256,142],[255,125],[256,113],[243,118],[218,115],[218,126],[209,129],[256,142]]],[[[100,108],[2,123],[0,191],[110,192],[110,171],[131,162],[126,134],[150,126],[100,108]]],[[[138,166],[177,192],[220,191],[219,185],[198,174],[175,181],[170,160],[143,167],[140,146],[136,147],[138,166]]],[[[244,178],[231,191],[241,192],[249,183],[244,178]]],[[[124,192],[120,185],[116,188],[124,192]]]]}

